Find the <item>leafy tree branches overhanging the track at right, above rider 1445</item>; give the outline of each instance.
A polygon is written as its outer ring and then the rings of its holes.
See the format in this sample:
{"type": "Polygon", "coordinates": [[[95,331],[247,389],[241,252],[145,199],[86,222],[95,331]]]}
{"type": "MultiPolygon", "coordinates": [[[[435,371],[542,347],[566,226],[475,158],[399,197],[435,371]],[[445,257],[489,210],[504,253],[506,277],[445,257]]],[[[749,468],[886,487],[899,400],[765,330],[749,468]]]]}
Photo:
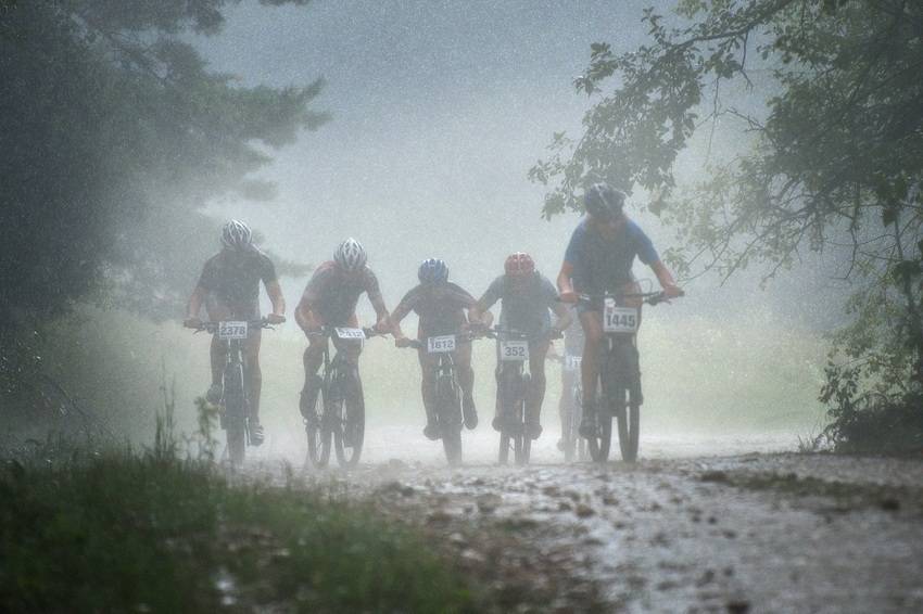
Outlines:
{"type": "Polygon", "coordinates": [[[668,26],[646,11],[652,41],[631,52],[591,47],[574,81],[596,98],[585,132],[556,135],[531,170],[551,188],[544,214],[579,209],[580,189],[605,179],[652,194],[685,245],[669,254],[684,276],[768,264],[768,279],[804,251],[833,253],[856,287],[838,351],[886,384],[923,385],[923,5],[685,0],[678,14],[668,26]],[[764,111],[725,106],[722,84],[750,86],[751,71],[770,76],[764,111]],[[679,154],[719,119],[744,144],[678,186],[679,154]]]}

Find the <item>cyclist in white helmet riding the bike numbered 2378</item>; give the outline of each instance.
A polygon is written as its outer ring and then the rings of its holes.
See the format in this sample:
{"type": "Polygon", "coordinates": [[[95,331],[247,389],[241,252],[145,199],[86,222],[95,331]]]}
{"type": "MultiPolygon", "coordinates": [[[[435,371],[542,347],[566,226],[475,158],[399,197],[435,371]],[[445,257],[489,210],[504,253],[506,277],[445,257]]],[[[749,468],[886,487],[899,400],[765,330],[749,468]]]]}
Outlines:
{"type": "MultiPolygon", "coordinates": [[[[189,328],[199,328],[202,305],[213,322],[220,320],[260,319],[260,281],[273,304],[267,319],[280,324],[286,321],[286,299],[276,277],[273,261],[253,244],[253,232],[246,223],[232,219],[222,228],[222,251],[208,258],[202,269],[199,283],[189,297],[186,321],[189,328]]],[[[263,443],[263,426],[260,424],[260,393],[263,373],[260,370],[260,329],[251,329],[244,344],[248,388],[250,389],[251,443],[263,443]]],[[[222,400],[222,372],[225,368],[225,347],[215,335],[212,337],[212,386],[205,393],[208,402],[222,400]]]]}

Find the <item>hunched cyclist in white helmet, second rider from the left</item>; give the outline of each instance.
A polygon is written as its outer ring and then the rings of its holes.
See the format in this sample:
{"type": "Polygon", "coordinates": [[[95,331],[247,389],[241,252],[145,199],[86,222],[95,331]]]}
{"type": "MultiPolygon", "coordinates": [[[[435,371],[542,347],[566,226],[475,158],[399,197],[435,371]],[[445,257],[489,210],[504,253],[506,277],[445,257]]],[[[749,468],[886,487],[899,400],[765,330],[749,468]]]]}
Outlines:
{"type": "MultiPolygon", "coordinates": [[[[337,247],[333,259],[317,267],[301,302],[295,309],[295,321],[308,335],[308,346],[304,351],[304,388],[301,393],[302,415],[314,408],[319,389],[317,370],[324,360],[327,337],[311,335],[325,325],[358,327],[356,305],[363,293],[368,295],[375,308],[378,322],[376,329],[389,330],[388,308],[378,286],[378,278],[366,265],[365,248],[355,239],[346,239],[337,247]]],[[[351,362],[357,363],[362,353],[361,343],[346,343],[339,338],[333,344],[345,351],[351,362]]]]}

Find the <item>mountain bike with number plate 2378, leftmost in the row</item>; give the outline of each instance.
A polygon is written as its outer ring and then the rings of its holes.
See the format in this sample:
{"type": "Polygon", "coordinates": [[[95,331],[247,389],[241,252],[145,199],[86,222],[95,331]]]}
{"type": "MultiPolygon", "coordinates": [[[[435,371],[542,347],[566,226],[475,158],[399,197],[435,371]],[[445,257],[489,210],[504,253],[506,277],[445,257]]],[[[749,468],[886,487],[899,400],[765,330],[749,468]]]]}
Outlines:
{"type": "Polygon", "coordinates": [[[225,342],[226,359],[222,372],[222,400],[218,402],[222,428],[227,436],[225,456],[233,466],[243,464],[250,445],[250,392],[246,389],[243,343],[253,329],[271,329],[266,319],[202,322],[195,332],[205,331],[225,342]]]}

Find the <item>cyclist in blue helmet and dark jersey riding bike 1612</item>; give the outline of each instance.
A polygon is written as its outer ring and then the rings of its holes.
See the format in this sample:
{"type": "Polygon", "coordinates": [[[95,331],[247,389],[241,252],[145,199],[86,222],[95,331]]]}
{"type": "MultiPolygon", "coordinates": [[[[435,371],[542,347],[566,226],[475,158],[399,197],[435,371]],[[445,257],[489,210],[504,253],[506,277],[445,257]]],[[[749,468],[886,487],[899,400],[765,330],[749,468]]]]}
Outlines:
{"type": "MultiPolygon", "coordinates": [[[[397,347],[406,347],[408,340],[401,330],[401,321],[410,311],[419,317],[417,336],[426,337],[456,334],[468,325],[465,311],[477,304],[477,299],[463,287],[448,281],[448,267],[439,258],[429,258],[420,264],[417,271],[420,280],[419,285],[412,289],[394,311],[391,314],[391,333],[397,347]]],[[[471,324],[480,323],[471,319],[471,324]]],[[[426,350],[419,351],[420,370],[422,372],[422,396],[423,407],[427,412],[427,425],[423,435],[429,439],[439,438],[439,427],[435,422],[435,408],[433,407],[433,382],[426,376],[430,373],[431,362],[434,360],[426,350]]],[[[471,344],[459,344],[458,349],[453,353],[453,359],[458,369],[458,384],[462,386],[462,411],[465,418],[465,426],[473,428],[478,425],[478,412],[475,408],[472,391],[475,388],[475,371],[471,369],[471,344]]]]}

